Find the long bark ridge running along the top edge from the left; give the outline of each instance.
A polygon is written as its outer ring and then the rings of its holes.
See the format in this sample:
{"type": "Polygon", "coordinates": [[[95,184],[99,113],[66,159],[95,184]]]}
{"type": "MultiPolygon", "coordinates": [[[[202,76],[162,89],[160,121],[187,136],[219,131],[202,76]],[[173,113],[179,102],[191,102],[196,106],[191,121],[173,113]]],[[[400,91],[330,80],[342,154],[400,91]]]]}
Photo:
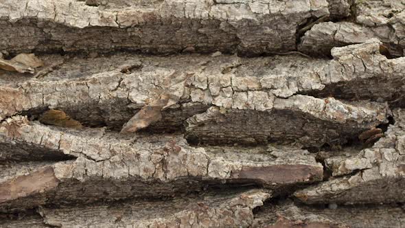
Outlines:
{"type": "Polygon", "coordinates": [[[146,53],[219,50],[243,54],[291,51],[296,48],[297,25],[311,17],[329,15],[325,0],[317,4],[299,0],[225,4],[168,0],[124,9],[114,5],[92,7],[73,0],[38,3],[3,2],[0,17],[8,35],[1,36],[7,44],[1,49],[9,52],[126,49],[146,53]],[[17,31],[32,35],[13,37],[17,31]]]}

